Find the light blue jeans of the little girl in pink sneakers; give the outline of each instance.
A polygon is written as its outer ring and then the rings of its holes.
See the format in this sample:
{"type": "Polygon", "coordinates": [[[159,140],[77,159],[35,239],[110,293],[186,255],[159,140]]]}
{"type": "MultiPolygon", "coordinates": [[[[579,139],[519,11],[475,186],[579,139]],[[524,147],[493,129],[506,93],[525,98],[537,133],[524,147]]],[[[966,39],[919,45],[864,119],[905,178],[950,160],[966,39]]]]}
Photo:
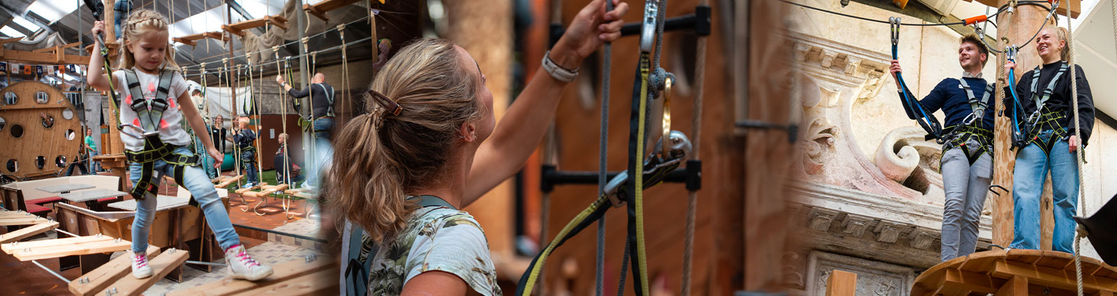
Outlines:
{"type": "MultiPolygon", "coordinates": [[[[193,155],[185,147],[179,147],[174,149],[174,152],[193,155]]],[[[132,179],[132,184],[134,185],[140,181],[142,165],[133,162],[128,166],[128,170],[131,171],[130,179],[132,179]]],[[[159,184],[163,175],[174,176],[174,166],[170,166],[163,160],[155,160],[155,170],[151,176],[151,182],[159,184]]],[[[198,206],[202,208],[202,214],[206,215],[206,223],[213,230],[213,235],[217,237],[221,249],[240,245],[240,237],[237,236],[237,231],[232,229],[232,223],[229,221],[229,213],[225,211],[221,197],[217,195],[217,188],[206,177],[206,171],[198,167],[185,167],[182,171],[182,182],[184,184],[180,184],[179,186],[185,187],[193,199],[198,201],[198,206]]],[[[146,198],[136,200],[136,216],[132,221],[132,250],[135,253],[143,253],[147,249],[149,227],[151,227],[152,220],[155,219],[155,208],[156,198],[150,194],[146,198]]]]}

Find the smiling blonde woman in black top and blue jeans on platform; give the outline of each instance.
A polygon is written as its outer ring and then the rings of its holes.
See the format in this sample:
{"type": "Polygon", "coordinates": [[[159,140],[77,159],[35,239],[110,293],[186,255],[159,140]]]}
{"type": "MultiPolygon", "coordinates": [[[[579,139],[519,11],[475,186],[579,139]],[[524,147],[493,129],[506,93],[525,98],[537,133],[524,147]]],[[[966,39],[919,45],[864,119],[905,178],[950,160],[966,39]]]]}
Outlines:
{"type": "MultiPolygon", "coordinates": [[[[1033,42],[1043,66],[1025,72],[1016,81],[1016,96],[1024,110],[1019,120],[1030,120],[1031,130],[1025,131],[1029,140],[1016,152],[1013,169],[1015,231],[1012,248],[1040,249],[1040,194],[1050,170],[1054,201],[1052,249],[1075,253],[1071,245],[1076,223],[1071,217],[1077,213],[1079,182],[1075,158],[1090,139],[1094,96],[1082,68],[1067,67],[1069,34],[1066,28],[1041,30],[1033,42]],[[1075,86],[1070,85],[1070,71],[1076,71],[1075,86]],[[1078,89],[1078,106],[1072,103],[1071,87],[1078,89]],[[1044,95],[1046,90],[1050,90],[1050,97],[1044,95]],[[1075,122],[1072,108],[1078,108],[1078,122],[1075,122]],[[1081,139],[1075,136],[1075,129],[1079,129],[1081,139]]],[[[1010,61],[1004,65],[1004,72],[1015,67],[1016,63],[1010,61]]],[[[1014,102],[1006,96],[1004,103],[1013,106],[1014,102]]]]}

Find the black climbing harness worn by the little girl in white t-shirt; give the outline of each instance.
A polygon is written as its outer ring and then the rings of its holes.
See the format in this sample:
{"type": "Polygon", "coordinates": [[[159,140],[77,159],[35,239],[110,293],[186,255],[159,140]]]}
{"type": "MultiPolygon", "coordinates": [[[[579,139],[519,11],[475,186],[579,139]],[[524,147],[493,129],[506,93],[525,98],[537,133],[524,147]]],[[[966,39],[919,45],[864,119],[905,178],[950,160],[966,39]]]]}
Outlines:
{"type": "Polygon", "coordinates": [[[125,97],[124,103],[127,103],[136,112],[137,118],[133,125],[139,124],[143,128],[144,140],[143,150],[124,151],[128,161],[141,165],[140,180],[136,181],[130,191],[135,199],[144,199],[146,194],[151,194],[152,196],[159,194],[157,182],[153,184],[151,181],[154,177],[155,160],[163,160],[174,167],[173,177],[176,184],[185,184],[182,176],[185,167],[197,166],[198,162],[197,155],[175,154],[174,149],[179,148],[179,146],[164,144],[159,138],[159,130],[169,126],[166,120],[163,120],[163,111],[169,107],[174,108],[168,103],[168,91],[174,72],[174,70],[163,69],[159,77],[159,87],[149,89],[149,91],[155,92],[154,98],[146,99],[140,88],[140,79],[136,77],[135,70],[124,70],[124,78],[128,88],[128,95],[125,97]]]}

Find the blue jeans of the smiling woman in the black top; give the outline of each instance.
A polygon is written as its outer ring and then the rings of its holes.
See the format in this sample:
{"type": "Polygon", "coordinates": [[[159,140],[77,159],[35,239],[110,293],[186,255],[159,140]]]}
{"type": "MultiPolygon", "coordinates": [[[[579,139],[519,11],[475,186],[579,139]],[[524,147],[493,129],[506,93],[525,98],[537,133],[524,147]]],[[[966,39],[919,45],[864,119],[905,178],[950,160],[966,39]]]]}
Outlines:
{"type": "MultiPolygon", "coordinates": [[[[1040,138],[1050,139],[1051,130],[1040,132],[1040,138]]],[[[1079,148],[1081,149],[1081,148],[1079,148]]],[[[1075,219],[1078,207],[1078,161],[1070,154],[1067,140],[1058,140],[1051,155],[1035,144],[1029,144],[1016,154],[1013,170],[1012,201],[1015,231],[1012,248],[1040,249],[1040,194],[1048,170],[1051,171],[1051,191],[1054,204],[1054,233],[1051,248],[1075,253],[1075,219]]]]}

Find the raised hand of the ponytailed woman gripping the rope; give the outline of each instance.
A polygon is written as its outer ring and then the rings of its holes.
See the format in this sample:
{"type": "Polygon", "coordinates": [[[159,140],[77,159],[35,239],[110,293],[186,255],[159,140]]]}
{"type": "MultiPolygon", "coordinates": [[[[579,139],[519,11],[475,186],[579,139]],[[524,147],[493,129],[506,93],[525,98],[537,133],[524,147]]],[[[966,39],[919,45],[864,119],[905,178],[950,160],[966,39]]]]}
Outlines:
{"type": "Polygon", "coordinates": [[[620,0],[594,0],[574,16],[555,47],[551,59],[566,69],[577,68],[582,59],[596,51],[605,42],[621,37],[621,20],[629,6],[620,0]],[[613,1],[613,10],[605,11],[605,1],[613,1]]]}

